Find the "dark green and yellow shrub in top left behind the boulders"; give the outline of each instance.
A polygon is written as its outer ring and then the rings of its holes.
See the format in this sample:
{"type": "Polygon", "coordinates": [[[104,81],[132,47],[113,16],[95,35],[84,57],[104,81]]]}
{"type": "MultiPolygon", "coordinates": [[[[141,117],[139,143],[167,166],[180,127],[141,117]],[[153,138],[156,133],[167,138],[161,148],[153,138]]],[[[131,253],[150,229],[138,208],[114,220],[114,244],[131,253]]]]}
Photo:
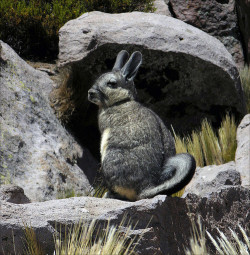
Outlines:
{"type": "Polygon", "coordinates": [[[1,0],[0,40],[32,60],[55,60],[58,31],[89,11],[153,11],[153,0],[1,0]]]}

